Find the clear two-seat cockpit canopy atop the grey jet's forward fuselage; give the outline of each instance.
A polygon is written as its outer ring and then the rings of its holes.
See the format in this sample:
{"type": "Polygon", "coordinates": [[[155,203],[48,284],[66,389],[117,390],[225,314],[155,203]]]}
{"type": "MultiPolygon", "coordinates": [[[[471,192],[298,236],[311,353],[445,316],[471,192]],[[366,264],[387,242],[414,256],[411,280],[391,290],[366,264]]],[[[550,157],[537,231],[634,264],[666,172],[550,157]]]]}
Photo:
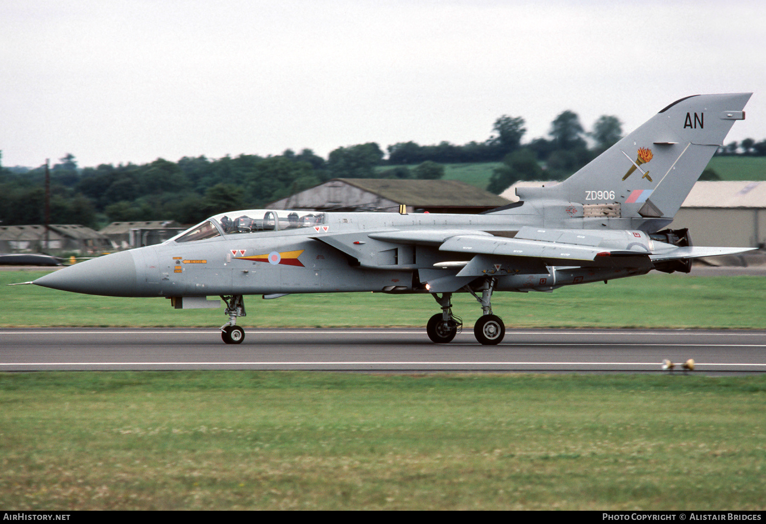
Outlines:
{"type": "Polygon", "coordinates": [[[219,236],[228,237],[233,234],[311,228],[324,224],[324,221],[324,213],[311,211],[272,211],[269,209],[232,211],[208,218],[208,220],[189,228],[171,240],[193,242],[219,236]]]}

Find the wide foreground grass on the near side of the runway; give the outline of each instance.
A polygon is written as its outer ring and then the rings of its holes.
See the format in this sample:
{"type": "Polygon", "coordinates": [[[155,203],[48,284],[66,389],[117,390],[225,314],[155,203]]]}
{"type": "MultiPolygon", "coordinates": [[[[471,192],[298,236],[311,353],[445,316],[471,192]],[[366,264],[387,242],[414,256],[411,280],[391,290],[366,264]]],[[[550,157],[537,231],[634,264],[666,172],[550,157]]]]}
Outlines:
{"type": "Polygon", "coordinates": [[[766,377],[0,374],[5,509],[766,509],[766,377]]]}

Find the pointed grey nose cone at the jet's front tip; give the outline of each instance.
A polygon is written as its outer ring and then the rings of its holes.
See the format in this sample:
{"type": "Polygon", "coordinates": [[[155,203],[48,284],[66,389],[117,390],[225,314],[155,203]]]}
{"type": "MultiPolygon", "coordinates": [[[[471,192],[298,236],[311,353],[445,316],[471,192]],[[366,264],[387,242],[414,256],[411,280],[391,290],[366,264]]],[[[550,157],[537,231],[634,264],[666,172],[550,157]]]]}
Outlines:
{"type": "Polygon", "coordinates": [[[32,283],[73,293],[135,296],[136,262],[130,251],[121,251],[48,273],[32,283]]]}

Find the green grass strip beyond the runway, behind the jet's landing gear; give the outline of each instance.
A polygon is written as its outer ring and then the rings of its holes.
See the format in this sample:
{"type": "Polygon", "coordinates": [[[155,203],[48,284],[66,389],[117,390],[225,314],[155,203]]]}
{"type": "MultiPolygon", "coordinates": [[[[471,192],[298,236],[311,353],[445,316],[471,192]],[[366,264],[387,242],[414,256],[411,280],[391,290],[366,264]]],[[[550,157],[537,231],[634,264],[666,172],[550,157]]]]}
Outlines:
{"type": "MultiPolygon", "coordinates": [[[[0,326],[214,326],[221,309],[172,309],[163,298],[110,298],[7,287],[44,272],[0,271],[0,326]]],[[[766,279],[690,277],[653,273],[643,277],[562,287],[553,293],[496,293],[493,309],[510,328],[653,327],[766,329],[766,279]]],[[[244,327],[425,326],[440,310],[427,294],[318,293],[245,299],[244,327]]],[[[480,316],[467,293],[453,296],[465,326],[480,316]]]]}

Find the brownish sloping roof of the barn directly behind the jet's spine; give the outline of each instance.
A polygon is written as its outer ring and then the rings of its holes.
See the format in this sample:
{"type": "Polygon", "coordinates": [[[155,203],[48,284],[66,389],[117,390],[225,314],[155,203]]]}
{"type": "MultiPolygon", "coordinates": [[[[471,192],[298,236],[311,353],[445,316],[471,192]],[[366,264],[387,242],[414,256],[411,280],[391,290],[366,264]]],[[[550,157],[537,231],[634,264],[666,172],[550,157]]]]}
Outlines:
{"type": "Polygon", "coordinates": [[[409,180],[399,178],[336,178],[349,185],[414,208],[499,207],[505,198],[457,180],[409,180]]]}

